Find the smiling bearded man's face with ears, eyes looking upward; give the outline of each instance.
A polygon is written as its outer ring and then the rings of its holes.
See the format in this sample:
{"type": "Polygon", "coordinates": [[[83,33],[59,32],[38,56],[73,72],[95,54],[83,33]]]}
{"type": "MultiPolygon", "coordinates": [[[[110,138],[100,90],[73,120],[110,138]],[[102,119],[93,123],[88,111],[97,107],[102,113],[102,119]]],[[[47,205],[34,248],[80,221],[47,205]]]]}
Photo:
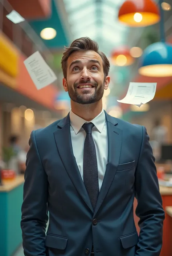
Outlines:
{"type": "Polygon", "coordinates": [[[63,79],[65,91],[72,101],[90,104],[103,97],[110,78],[105,77],[101,56],[88,50],[74,52],[67,60],[67,78],[63,79]]]}

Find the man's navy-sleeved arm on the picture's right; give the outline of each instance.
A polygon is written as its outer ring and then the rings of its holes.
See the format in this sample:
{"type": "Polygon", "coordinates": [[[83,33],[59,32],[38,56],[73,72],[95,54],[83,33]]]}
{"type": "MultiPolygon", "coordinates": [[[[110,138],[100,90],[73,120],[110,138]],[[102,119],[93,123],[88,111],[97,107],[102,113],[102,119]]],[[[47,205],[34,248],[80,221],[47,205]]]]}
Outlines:
{"type": "Polygon", "coordinates": [[[136,255],[159,256],[162,247],[165,214],[159,192],[155,158],[146,128],[143,126],[142,129],[142,146],[135,172],[135,189],[138,200],[136,215],[140,218],[140,234],[136,255]]]}

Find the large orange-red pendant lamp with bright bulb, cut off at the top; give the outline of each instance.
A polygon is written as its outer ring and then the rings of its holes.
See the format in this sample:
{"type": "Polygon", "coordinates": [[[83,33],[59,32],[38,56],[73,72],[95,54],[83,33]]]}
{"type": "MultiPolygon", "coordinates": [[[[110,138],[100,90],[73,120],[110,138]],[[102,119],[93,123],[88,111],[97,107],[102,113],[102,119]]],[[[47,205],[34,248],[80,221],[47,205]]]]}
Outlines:
{"type": "Polygon", "coordinates": [[[126,0],[118,19],[130,27],[147,27],[160,21],[160,11],[154,0],[126,0]]]}

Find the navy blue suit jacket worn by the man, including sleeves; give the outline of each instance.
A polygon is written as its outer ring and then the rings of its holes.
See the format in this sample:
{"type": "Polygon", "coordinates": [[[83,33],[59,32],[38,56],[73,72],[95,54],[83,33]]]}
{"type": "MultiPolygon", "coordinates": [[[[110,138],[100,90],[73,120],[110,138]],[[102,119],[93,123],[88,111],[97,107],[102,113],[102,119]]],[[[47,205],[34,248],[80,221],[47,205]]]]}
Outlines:
{"type": "Polygon", "coordinates": [[[146,129],[105,114],[108,163],[94,211],[73,155],[69,115],[32,132],[21,220],[25,256],[85,256],[93,244],[97,256],[159,256],[164,210],[146,129]]]}

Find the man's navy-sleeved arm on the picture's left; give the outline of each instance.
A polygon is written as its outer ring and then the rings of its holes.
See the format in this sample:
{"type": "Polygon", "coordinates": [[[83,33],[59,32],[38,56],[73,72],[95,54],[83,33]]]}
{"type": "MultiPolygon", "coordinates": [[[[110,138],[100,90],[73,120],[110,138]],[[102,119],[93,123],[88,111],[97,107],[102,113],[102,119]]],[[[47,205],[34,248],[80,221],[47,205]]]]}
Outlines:
{"type": "Polygon", "coordinates": [[[29,139],[22,203],[22,239],[25,256],[46,256],[45,231],[48,221],[48,179],[38,153],[35,133],[29,139]]]}

